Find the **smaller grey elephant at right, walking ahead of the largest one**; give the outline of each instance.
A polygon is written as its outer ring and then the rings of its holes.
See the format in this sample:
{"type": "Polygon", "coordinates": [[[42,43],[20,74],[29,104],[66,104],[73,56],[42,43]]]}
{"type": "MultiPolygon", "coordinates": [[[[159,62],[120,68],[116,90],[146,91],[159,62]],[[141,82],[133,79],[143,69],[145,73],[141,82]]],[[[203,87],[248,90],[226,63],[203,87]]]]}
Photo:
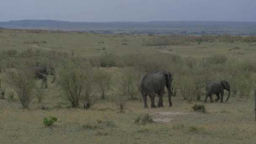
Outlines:
{"type": "MultiPolygon", "coordinates": [[[[206,85],[206,96],[205,96],[205,103],[207,103],[208,96],[210,97],[211,103],[213,102],[212,95],[215,94],[217,96],[217,99],[215,101],[219,101],[221,99],[221,103],[223,102],[223,96],[224,96],[224,89],[229,91],[227,100],[230,96],[230,85],[226,80],[210,80],[208,81],[206,85]],[[221,93],[221,98],[219,97],[219,93],[221,93]]],[[[226,102],[227,102],[226,100],[226,102]]]]}

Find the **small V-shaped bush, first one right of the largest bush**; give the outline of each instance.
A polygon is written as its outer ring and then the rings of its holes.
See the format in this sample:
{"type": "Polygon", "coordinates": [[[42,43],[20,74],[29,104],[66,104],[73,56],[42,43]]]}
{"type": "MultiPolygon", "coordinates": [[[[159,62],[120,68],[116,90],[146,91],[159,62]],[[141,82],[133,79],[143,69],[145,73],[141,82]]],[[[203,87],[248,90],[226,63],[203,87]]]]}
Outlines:
{"type": "Polygon", "coordinates": [[[95,83],[97,87],[99,87],[99,91],[101,93],[101,99],[105,99],[105,94],[108,90],[110,90],[110,86],[112,85],[112,76],[108,72],[104,72],[102,70],[97,70],[95,72],[95,83]]]}

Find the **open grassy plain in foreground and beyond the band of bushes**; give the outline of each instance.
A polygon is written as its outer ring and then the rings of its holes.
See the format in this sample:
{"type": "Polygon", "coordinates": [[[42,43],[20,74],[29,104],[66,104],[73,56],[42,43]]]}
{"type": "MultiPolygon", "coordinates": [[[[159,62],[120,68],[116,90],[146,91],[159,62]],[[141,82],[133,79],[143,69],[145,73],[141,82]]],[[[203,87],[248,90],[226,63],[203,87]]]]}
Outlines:
{"type": "MultiPolygon", "coordinates": [[[[192,56],[197,59],[225,54],[229,60],[255,59],[256,43],[221,43],[203,42],[170,46],[144,46],[143,39],[149,40],[156,36],[145,35],[100,35],[100,34],[35,34],[24,31],[3,30],[0,32],[0,50],[16,49],[18,52],[28,48],[33,50],[54,50],[67,52],[75,50],[75,56],[90,58],[107,53],[118,56],[133,53],[173,53],[181,56],[192,56]],[[15,35],[16,36],[11,36],[15,35]],[[46,41],[32,43],[31,41],[46,41]],[[25,43],[24,43],[25,42],[25,43]],[[102,43],[104,42],[104,43],[102,43]],[[123,43],[128,43],[125,45],[123,43]],[[123,45],[122,45],[123,44],[123,45]],[[106,50],[98,50],[105,47],[106,50]],[[239,49],[234,49],[239,47],[239,49]],[[231,51],[229,50],[231,49],[231,51]]],[[[117,72],[123,68],[100,68],[117,72]]],[[[216,73],[213,73],[217,75],[216,73]]],[[[6,84],[6,73],[0,73],[2,88],[6,93],[13,91],[6,84]]],[[[40,85],[41,81],[37,81],[40,85]]],[[[193,112],[194,101],[184,101],[181,93],[173,97],[173,107],[168,107],[167,94],[163,108],[144,109],[139,100],[128,101],[125,112],[119,109],[113,101],[115,89],[109,91],[107,99],[99,100],[91,109],[70,108],[69,104],[60,98],[55,83],[48,81],[48,95],[43,104],[37,104],[34,99],[30,109],[22,109],[18,97],[13,101],[0,99],[0,143],[19,144],[253,144],[256,143],[256,125],[254,121],[253,93],[248,98],[238,96],[229,98],[227,103],[205,104],[207,113],[193,112]],[[162,115],[169,112],[170,115],[162,115]],[[155,122],[145,125],[135,124],[134,120],[141,114],[149,113],[153,119],[167,122],[155,122]],[[160,113],[160,114],[159,114],[160,113]],[[54,116],[58,121],[50,128],[43,125],[43,117],[54,116]],[[115,125],[103,125],[98,121],[111,121],[115,125]],[[88,125],[91,125],[88,126],[88,125]]],[[[232,88],[232,85],[231,85],[232,88]]],[[[137,94],[139,97],[139,93],[137,94]]],[[[202,95],[202,98],[204,95],[202,95]]],[[[225,96],[226,98],[226,96],[225,96]]],[[[224,98],[224,99],[225,99],[224,98]]],[[[158,99],[156,98],[156,101],[158,99]]],[[[149,104],[150,101],[148,101],[149,104]]],[[[81,104],[82,105],[82,104],[81,104]]]]}

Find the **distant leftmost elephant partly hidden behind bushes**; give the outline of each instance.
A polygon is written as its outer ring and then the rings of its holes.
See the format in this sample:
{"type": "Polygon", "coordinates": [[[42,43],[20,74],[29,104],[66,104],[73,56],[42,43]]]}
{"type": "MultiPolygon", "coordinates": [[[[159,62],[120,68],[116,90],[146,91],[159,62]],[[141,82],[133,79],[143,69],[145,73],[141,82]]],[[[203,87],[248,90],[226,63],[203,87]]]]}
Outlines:
{"type": "Polygon", "coordinates": [[[45,84],[45,88],[47,88],[47,75],[53,75],[53,81],[51,83],[54,83],[54,81],[56,80],[56,72],[53,67],[49,67],[49,66],[31,67],[30,70],[34,72],[35,78],[37,80],[42,79],[41,88],[43,88],[44,84],[45,84]]]}

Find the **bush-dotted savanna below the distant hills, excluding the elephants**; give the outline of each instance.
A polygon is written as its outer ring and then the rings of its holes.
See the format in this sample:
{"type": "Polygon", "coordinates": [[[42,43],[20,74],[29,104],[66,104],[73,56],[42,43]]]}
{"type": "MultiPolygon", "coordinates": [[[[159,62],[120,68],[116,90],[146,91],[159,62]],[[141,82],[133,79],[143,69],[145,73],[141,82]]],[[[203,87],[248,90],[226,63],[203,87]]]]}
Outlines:
{"type": "Polygon", "coordinates": [[[1,93],[8,93],[8,100],[4,94],[0,99],[0,143],[256,142],[256,59],[251,57],[255,55],[254,36],[37,33],[0,32],[1,93]],[[21,40],[6,36],[9,33],[21,35],[21,40]],[[73,47],[67,44],[77,43],[78,37],[83,37],[85,43],[73,47]],[[94,40],[93,44],[87,39],[94,40]],[[131,45],[122,45],[124,40],[131,45]],[[85,47],[87,43],[91,45],[85,47]],[[104,51],[97,51],[103,47],[104,51]],[[231,48],[235,49],[229,51],[231,48]],[[245,56],[237,56],[238,52],[245,56]],[[49,84],[48,89],[40,89],[41,80],[36,81],[27,70],[40,65],[56,69],[56,83],[49,84]],[[172,87],[177,92],[173,107],[167,107],[165,94],[165,107],[144,109],[139,102],[138,83],[144,74],[157,70],[173,73],[172,87]],[[227,103],[200,104],[208,80],[229,82],[231,98],[227,103]],[[198,105],[193,107],[195,103],[198,105]],[[157,118],[170,121],[157,122],[157,118]]]}

